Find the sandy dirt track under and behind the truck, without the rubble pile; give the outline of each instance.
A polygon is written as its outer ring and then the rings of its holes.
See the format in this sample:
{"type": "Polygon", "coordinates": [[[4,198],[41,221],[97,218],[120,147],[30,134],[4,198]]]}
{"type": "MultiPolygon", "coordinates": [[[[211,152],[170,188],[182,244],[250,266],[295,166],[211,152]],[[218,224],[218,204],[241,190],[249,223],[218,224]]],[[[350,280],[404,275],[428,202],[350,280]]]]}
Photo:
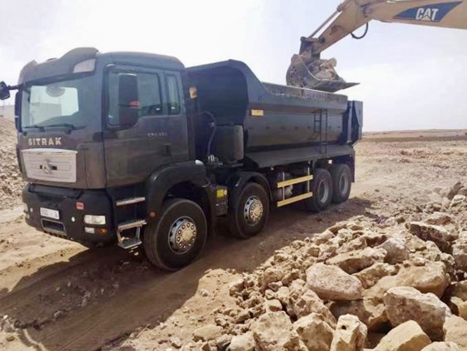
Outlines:
{"type": "Polygon", "coordinates": [[[462,133],[451,141],[429,135],[432,141],[368,137],[356,147],[357,182],[345,204],[318,215],[275,209],[264,232],[248,241],[219,230],[200,260],[175,273],[119,248],[90,251],[36,232],[20,208],[0,211],[0,349],[175,350],[174,338],[187,343],[194,329],[214,322],[217,308],[235,308],[229,282],[277,249],[339,220],[388,218],[429,201],[436,186],[465,181],[462,133]]]}

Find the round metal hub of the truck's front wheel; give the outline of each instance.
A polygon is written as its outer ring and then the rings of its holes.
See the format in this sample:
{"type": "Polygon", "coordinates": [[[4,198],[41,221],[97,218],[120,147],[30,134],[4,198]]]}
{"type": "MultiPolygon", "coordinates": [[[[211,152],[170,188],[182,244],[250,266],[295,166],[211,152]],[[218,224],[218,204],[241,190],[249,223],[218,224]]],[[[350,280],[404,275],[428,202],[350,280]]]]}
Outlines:
{"type": "Polygon", "coordinates": [[[170,226],[169,246],[175,253],[186,253],[196,241],[196,225],[189,217],[175,220],[170,226]]]}

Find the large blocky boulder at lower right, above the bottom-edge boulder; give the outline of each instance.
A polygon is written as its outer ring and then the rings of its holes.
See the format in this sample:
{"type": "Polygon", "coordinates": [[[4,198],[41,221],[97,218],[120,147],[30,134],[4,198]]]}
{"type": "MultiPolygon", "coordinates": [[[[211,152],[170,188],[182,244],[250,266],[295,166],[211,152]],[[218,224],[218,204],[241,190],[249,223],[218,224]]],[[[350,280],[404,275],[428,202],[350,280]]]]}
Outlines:
{"type": "Polygon", "coordinates": [[[413,320],[433,340],[442,340],[442,326],[452,317],[452,312],[433,293],[424,294],[409,286],[399,286],[390,289],[383,300],[393,326],[413,320]]]}

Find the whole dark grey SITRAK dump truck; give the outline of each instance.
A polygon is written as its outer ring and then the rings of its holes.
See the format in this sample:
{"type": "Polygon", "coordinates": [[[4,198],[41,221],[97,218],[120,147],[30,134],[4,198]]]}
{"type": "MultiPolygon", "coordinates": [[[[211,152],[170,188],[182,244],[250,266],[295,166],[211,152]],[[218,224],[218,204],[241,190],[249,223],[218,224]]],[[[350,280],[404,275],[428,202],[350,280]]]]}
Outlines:
{"type": "Polygon", "coordinates": [[[167,270],[195,260],[218,224],[252,237],[272,207],[323,211],[355,178],[362,103],[262,83],[243,62],[76,48],[27,64],[1,98],[14,89],[27,224],[142,246],[167,270]]]}

